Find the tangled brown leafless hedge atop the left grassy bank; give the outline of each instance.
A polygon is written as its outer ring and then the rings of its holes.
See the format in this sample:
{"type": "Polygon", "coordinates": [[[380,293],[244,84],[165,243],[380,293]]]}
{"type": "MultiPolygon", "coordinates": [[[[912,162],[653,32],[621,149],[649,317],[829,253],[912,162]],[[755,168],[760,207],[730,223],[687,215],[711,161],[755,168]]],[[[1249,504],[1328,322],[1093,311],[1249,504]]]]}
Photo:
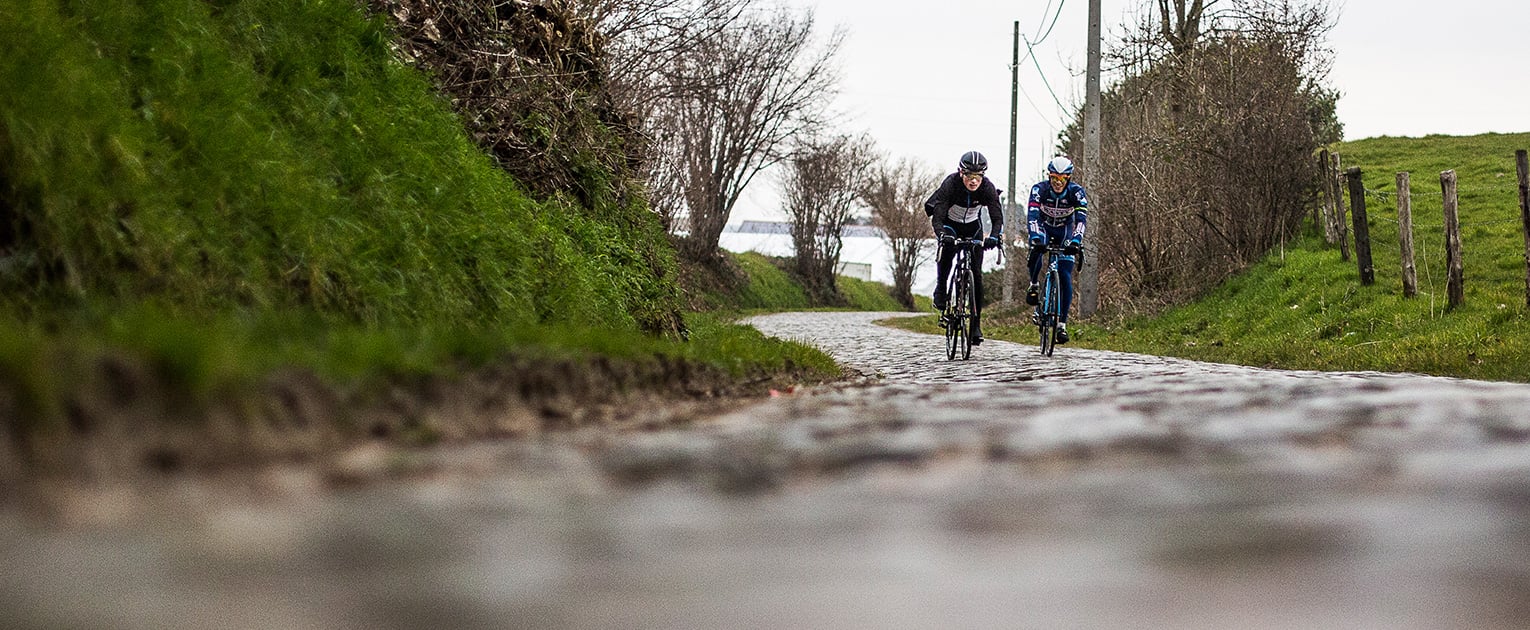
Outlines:
{"type": "MultiPolygon", "coordinates": [[[[603,37],[563,3],[367,0],[402,58],[425,69],[474,141],[531,190],[586,206],[636,177],[636,121],[607,90],[603,37]],[[571,116],[569,112],[589,112],[571,116]],[[592,168],[594,167],[594,168],[592,168]],[[591,177],[604,171],[612,177],[591,177]]],[[[615,193],[624,196],[626,187],[615,193]]]]}

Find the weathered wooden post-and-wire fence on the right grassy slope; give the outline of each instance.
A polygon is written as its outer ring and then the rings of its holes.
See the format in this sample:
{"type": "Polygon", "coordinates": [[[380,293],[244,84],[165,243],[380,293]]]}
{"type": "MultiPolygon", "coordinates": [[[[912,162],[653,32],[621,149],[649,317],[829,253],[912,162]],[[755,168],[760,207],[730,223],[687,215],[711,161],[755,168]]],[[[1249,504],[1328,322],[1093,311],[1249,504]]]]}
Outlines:
{"type": "MultiPolygon", "coordinates": [[[[1327,151],[1319,158],[1319,164],[1327,170],[1327,177],[1330,185],[1320,190],[1323,199],[1320,199],[1319,206],[1314,208],[1313,220],[1322,222],[1319,229],[1323,239],[1330,245],[1339,245],[1343,260],[1349,260],[1349,220],[1354,222],[1354,237],[1356,237],[1356,252],[1357,252],[1357,268],[1360,280],[1363,284],[1369,284],[1371,265],[1369,254],[1369,237],[1368,237],[1368,222],[1372,217],[1366,214],[1366,202],[1375,202],[1377,206],[1391,206],[1398,209],[1398,217],[1389,217],[1383,213],[1377,213],[1375,222],[1385,222],[1388,225],[1395,225],[1398,231],[1398,246],[1400,246],[1400,263],[1403,268],[1403,294],[1405,297],[1414,297],[1415,291],[1411,286],[1411,275],[1414,269],[1412,246],[1417,243],[1418,255],[1423,258],[1423,284],[1427,287],[1424,294],[1429,297],[1429,315],[1431,318],[1443,315],[1444,310],[1460,307],[1464,303],[1464,274],[1461,271],[1461,234],[1463,232],[1481,232],[1481,229],[1498,229],[1504,223],[1521,223],[1524,234],[1524,260],[1525,260],[1525,307],[1530,309],[1530,167],[1527,167],[1525,150],[1515,151],[1516,174],[1518,182],[1506,185],[1469,185],[1458,187],[1457,173],[1447,170],[1440,173],[1440,188],[1432,190],[1426,187],[1415,188],[1409,185],[1409,174],[1398,173],[1398,190],[1380,190],[1368,188],[1363,185],[1363,170],[1349,168],[1346,171],[1339,170],[1339,156],[1328,156],[1327,151]],[[1348,206],[1343,203],[1345,183],[1348,183],[1348,206]],[[1400,203],[1401,187],[1408,187],[1408,203],[1400,203]],[[1481,217],[1473,214],[1469,222],[1461,222],[1457,213],[1461,197],[1469,197],[1473,202],[1481,199],[1502,199],[1502,196],[1518,194],[1519,216],[1507,217],[1481,217]],[[1415,203],[1423,200],[1421,203],[1415,203]],[[1440,208],[1441,213],[1431,211],[1431,208],[1440,208]],[[1346,213],[1348,211],[1348,213],[1346,213]],[[1414,223],[1412,213],[1424,211],[1427,220],[1423,223],[1414,223]],[[1346,217],[1348,214],[1348,217],[1346,217]],[[1440,219],[1438,222],[1435,219],[1440,219]],[[1403,225],[1408,225],[1408,235],[1403,235],[1403,225]],[[1414,242],[1414,235],[1420,232],[1427,232],[1429,237],[1414,242]],[[1440,291],[1440,278],[1435,277],[1435,269],[1431,261],[1440,254],[1440,237],[1444,242],[1444,257],[1446,257],[1446,294],[1447,304],[1444,309],[1438,309],[1437,295],[1440,291]]],[[[1496,206],[1496,203],[1495,203],[1496,206]]],[[[1480,208],[1480,206],[1478,206],[1480,208]]]]}

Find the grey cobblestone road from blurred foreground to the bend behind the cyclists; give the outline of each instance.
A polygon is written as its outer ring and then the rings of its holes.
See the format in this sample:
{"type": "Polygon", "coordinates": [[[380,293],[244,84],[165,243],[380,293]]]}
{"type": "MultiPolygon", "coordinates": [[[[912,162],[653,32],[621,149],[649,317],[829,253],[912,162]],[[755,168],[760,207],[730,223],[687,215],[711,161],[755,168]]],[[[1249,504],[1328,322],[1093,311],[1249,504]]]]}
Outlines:
{"type": "Polygon", "coordinates": [[[754,318],[863,382],[685,428],[361,450],[167,486],[151,517],[101,491],[69,528],[0,515],[0,627],[1530,619],[1530,385],[996,341],[947,362],[872,324],[892,315],[754,318]]]}

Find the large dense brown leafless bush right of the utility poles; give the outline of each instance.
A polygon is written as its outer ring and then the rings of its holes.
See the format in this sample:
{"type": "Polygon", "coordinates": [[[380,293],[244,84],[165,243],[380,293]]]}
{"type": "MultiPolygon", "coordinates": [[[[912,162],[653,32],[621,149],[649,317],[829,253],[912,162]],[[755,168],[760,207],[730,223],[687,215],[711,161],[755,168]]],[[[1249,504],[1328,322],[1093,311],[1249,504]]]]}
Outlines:
{"type": "Polygon", "coordinates": [[[1325,0],[1212,3],[1155,0],[1112,50],[1125,78],[1091,176],[1111,220],[1091,228],[1102,297],[1121,306],[1172,303],[1290,239],[1314,200],[1311,154],[1342,133],[1320,86],[1325,0]]]}

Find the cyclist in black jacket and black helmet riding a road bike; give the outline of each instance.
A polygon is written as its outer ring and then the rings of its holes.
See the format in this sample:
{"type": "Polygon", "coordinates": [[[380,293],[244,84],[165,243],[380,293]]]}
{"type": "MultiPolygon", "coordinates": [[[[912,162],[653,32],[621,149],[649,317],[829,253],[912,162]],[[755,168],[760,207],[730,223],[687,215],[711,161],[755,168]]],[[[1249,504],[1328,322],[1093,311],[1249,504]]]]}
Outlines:
{"type": "MultiPolygon", "coordinates": [[[[952,258],[956,248],[952,246],[958,237],[978,239],[982,235],[981,208],[988,206],[988,223],[993,231],[982,240],[982,249],[998,248],[1004,239],[1004,205],[999,196],[1004,193],[993,185],[982,173],[988,170],[988,159],[978,151],[962,153],[956,173],[946,176],[941,187],[924,202],[924,214],[930,216],[930,226],[941,242],[941,251],[935,263],[935,310],[946,309],[946,277],[952,271],[952,258]]],[[[978,307],[973,309],[972,336],[973,346],[982,343],[982,249],[972,252],[973,292],[978,307]]]]}

